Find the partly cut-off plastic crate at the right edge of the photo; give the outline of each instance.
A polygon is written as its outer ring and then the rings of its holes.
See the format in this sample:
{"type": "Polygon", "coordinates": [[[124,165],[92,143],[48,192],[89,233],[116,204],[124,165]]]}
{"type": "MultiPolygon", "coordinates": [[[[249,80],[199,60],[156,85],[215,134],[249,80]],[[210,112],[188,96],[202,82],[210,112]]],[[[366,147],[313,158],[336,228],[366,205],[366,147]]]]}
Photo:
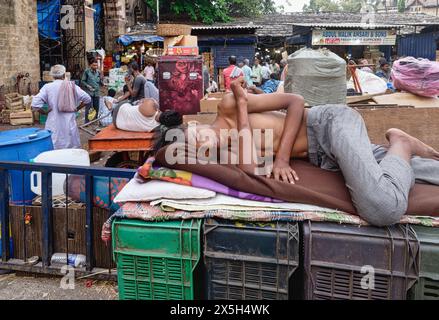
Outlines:
{"type": "Polygon", "coordinates": [[[421,245],[419,281],[410,290],[411,300],[439,300],[439,229],[414,226],[421,245]]]}

